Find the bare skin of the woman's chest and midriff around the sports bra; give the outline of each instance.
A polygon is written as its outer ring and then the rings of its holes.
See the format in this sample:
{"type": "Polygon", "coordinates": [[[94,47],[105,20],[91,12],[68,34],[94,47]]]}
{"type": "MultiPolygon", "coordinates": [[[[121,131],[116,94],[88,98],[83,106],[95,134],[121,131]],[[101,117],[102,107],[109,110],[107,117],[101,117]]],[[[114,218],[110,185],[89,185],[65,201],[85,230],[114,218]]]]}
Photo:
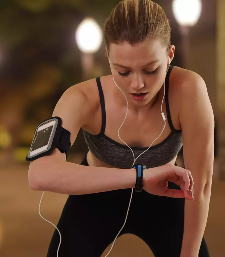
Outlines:
{"type": "MultiPolygon", "coordinates": [[[[168,101],[170,116],[172,121],[172,126],[175,130],[181,130],[181,125],[179,122],[180,113],[180,102],[179,102],[179,84],[177,83],[177,77],[179,77],[180,72],[179,67],[173,67],[169,77],[169,91],[168,91],[168,101]]],[[[122,92],[116,87],[113,82],[112,75],[104,76],[100,78],[102,91],[105,100],[105,136],[109,137],[113,141],[118,142],[121,145],[125,145],[120,141],[118,137],[118,129],[120,128],[127,112],[127,105],[121,104],[116,98],[117,94],[122,92]]],[[[85,84],[82,88],[90,101],[93,102],[95,99],[93,112],[88,117],[88,123],[82,128],[90,134],[98,135],[102,128],[102,108],[100,103],[99,91],[96,84],[96,80],[89,80],[89,83],[85,84]]],[[[164,95],[164,87],[162,86],[159,91],[159,98],[155,105],[145,113],[144,116],[137,117],[132,115],[129,111],[127,118],[120,129],[120,137],[126,142],[130,147],[149,147],[152,142],[159,137],[159,134],[163,130],[164,121],[161,115],[161,104],[164,95]],[[142,124],[142,126],[140,126],[142,124]]],[[[163,112],[166,117],[166,127],[163,130],[161,136],[154,141],[152,146],[158,145],[163,142],[170,134],[171,128],[168,123],[165,97],[163,100],[163,112]]],[[[144,151],[144,150],[143,150],[144,151]]],[[[131,152],[131,150],[130,150],[131,152]]],[[[136,158],[137,156],[135,156],[136,158]]],[[[177,155],[168,163],[175,164],[177,155]]],[[[90,151],[87,154],[87,161],[89,166],[100,166],[100,167],[114,167],[109,165],[100,159],[96,158],[95,155],[90,151]]],[[[138,161],[137,161],[138,162],[138,161]]]]}

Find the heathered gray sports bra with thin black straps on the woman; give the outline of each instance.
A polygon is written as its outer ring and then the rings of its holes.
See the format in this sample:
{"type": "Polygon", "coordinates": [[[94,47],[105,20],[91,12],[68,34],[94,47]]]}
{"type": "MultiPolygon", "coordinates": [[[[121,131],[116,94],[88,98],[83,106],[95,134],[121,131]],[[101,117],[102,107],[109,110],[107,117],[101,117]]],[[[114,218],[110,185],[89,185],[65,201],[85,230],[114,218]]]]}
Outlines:
{"type": "MultiPolygon", "coordinates": [[[[176,130],[173,127],[173,123],[170,116],[168,91],[169,77],[172,69],[173,66],[170,66],[166,75],[165,82],[166,113],[171,133],[161,143],[159,143],[158,145],[154,145],[149,149],[148,147],[131,147],[131,149],[134,152],[135,159],[142,152],[148,149],[148,151],[142,154],[135,162],[136,164],[144,164],[147,169],[162,166],[172,161],[183,145],[181,130],[176,130]]],[[[92,154],[95,155],[95,157],[101,160],[102,162],[105,162],[106,164],[109,164],[110,166],[113,166],[115,168],[130,169],[134,162],[134,157],[130,148],[127,145],[122,145],[105,135],[105,100],[102,91],[100,77],[97,77],[96,81],[102,108],[102,128],[101,132],[98,135],[90,134],[83,129],[85,142],[88,145],[88,148],[90,149],[92,154]]]]}

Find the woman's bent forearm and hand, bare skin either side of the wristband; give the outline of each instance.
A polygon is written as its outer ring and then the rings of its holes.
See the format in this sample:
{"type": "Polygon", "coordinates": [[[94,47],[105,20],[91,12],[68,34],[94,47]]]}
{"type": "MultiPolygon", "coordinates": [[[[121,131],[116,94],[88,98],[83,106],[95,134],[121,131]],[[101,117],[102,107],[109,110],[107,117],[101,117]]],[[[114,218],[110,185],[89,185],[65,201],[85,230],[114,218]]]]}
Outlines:
{"type": "MultiPolygon", "coordinates": [[[[64,155],[65,153],[55,148],[52,156],[40,158],[35,166],[32,167],[31,162],[30,187],[33,190],[85,195],[135,186],[136,169],[84,166],[62,160],[64,155]]],[[[143,189],[147,192],[160,196],[190,199],[192,194],[187,192],[188,188],[189,192],[193,189],[193,178],[189,170],[166,164],[143,171],[143,189]],[[171,179],[180,181],[182,191],[167,188],[167,183],[164,182],[171,181],[171,179]]]]}

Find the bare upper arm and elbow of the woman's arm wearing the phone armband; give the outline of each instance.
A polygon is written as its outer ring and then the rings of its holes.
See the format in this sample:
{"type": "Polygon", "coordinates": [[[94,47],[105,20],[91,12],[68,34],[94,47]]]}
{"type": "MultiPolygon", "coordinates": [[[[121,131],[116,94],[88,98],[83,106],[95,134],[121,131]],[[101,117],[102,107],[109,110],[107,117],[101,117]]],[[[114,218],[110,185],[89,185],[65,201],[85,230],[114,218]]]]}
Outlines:
{"type": "MultiPolygon", "coordinates": [[[[82,83],[84,85],[84,82],[82,83]]],[[[89,97],[90,98],[90,97],[89,97]]],[[[91,98],[92,99],[92,98],[91,98]]],[[[81,90],[80,84],[69,87],[61,96],[52,117],[58,116],[62,120],[62,127],[70,131],[70,143],[73,145],[80,128],[86,124],[90,117],[91,101],[84,91],[81,90]]],[[[54,148],[49,155],[42,156],[30,162],[28,170],[28,180],[31,188],[38,188],[42,181],[44,172],[51,172],[58,162],[65,162],[66,154],[54,148]]]]}

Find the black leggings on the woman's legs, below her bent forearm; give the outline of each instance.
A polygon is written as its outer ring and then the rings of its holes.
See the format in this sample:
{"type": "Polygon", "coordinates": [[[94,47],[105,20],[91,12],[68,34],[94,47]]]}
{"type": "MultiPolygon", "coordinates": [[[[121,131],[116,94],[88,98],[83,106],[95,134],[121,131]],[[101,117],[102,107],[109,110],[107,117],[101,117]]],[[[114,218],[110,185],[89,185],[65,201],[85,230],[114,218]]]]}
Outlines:
{"type": "MultiPolygon", "coordinates": [[[[88,166],[86,156],[81,165],[88,166]]],[[[168,187],[180,189],[172,182],[168,187]]],[[[57,225],[62,235],[59,257],[100,257],[123,226],[130,196],[131,189],[69,195],[57,225]]],[[[134,191],[127,222],[118,237],[134,234],[145,241],[155,257],[180,257],[184,203],[185,198],[134,191]]],[[[59,239],[55,229],[47,257],[57,256],[59,239]]],[[[204,237],[198,256],[209,257],[204,237]]]]}

